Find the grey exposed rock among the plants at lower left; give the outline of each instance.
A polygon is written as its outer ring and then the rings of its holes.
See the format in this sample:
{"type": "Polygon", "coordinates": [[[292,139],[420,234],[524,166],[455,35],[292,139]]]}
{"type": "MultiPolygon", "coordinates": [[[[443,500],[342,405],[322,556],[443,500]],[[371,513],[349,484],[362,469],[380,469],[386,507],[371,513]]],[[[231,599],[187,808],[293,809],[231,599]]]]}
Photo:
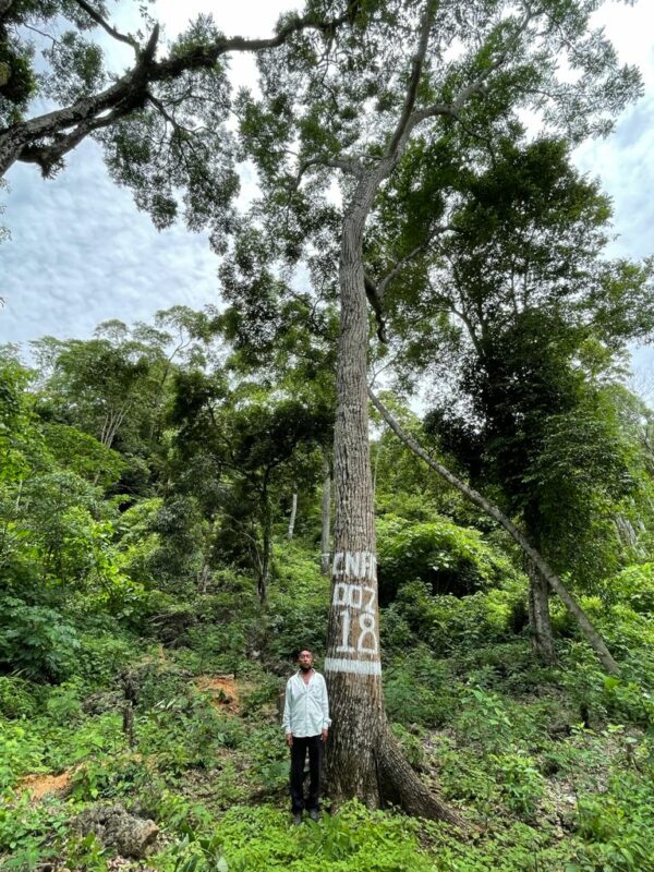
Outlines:
{"type": "Polygon", "coordinates": [[[123,857],[136,859],[145,857],[159,832],[154,821],[130,814],[120,804],[86,809],[73,820],[72,825],[83,836],[94,833],[106,847],[114,848],[123,857]]]}

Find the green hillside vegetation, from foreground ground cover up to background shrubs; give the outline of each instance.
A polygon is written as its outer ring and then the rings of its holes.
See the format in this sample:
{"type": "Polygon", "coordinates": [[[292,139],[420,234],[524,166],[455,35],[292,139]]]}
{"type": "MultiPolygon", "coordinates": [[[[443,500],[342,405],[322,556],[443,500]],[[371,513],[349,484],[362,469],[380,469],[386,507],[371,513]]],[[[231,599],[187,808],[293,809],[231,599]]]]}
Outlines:
{"type": "MultiPolygon", "coordinates": [[[[320,455],[307,448],[306,477],[289,468],[276,483],[263,605],[261,552],[244,544],[262,541],[262,505],[245,487],[268,457],[261,445],[247,455],[257,422],[239,437],[241,472],[211,477],[206,431],[186,457],[175,439],[189,422],[165,413],[174,399],[160,395],[165,360],[152,365],[149,375],[117,370],[141,386],[144,415],[125,424],[120,452],[84,432],[104,420],[93,391],[87,405],[73,391],[71,405],[65,374],[39,396],[12,358],[0,372],[0,869],[654,870],[647,529],[638,548],[614,543],[619,568],[606,578],[566,579],[620,677],[602,673],[555,601],[558,663],[544,667],[510,544],[385,444],[376,469],[386,710],[407,759],[468,829],[392,808],[336,809],[329,798],[319,824],[293,828],[278,702],[298,649],[311,647],[318,668],[324,652],[329,581],[318,572],[312,479],[320,455]],[[289,542],[280,507],[298,482],[304,504],[289,542]],[[156,822],[146,858],[117,857],[77,831],[76,816],[98,803],[156,822]]],[[[183,383],[183,398],[194,384],[183,383]]],[[[256,391],[245,407],[255,401],[256,391]]]]}

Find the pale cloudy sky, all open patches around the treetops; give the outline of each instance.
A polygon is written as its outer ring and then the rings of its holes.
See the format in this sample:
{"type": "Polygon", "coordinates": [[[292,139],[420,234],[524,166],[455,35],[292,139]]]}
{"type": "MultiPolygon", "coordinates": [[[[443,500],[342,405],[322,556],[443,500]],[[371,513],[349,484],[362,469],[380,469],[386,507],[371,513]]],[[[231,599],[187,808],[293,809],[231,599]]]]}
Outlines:
{"type": "MultiPolygon", "coordinates": [[[[158,0],[153,10],[168,37],[207,11],[228,35],[268,36],[279,12],[292,5],[293,0],[158,0]]],[[[610,137],[585,143],[574,159],[581,170],[601,178],[613,198],[617,238],[611,254],[639,258],[654,253],[654,2],[608,2],[595,23],[606,27],[623,62],[640,66],[645,94],[610,137]]],[[[120,52],[128,48],[107,40],[112,60],[126,64],[129,53],[120,52]]],[[[237,56],[231,66],[234,80],[254,85],[251,57],[237,56]]],[[[45,335],[87,338],[111,318],[132,324],[177,304],[219,304],[218,258],[206,234],[190,233],[182,225],[157,231],[136,209],[131,192],[109,179],[95,143],[86,141],[72,152],[52,181],[44,181],[34,166],[17,164],[8,182],[9,191],[0,191],[5,207],[0,225],[11,231],[11,239],[0,243],[0,343],[45,335]]],[[[246,193],[254,183],[246,173],[246,193]]],[[[634,367],[654,372],[654,351],[635,350],[634,367]]]]}

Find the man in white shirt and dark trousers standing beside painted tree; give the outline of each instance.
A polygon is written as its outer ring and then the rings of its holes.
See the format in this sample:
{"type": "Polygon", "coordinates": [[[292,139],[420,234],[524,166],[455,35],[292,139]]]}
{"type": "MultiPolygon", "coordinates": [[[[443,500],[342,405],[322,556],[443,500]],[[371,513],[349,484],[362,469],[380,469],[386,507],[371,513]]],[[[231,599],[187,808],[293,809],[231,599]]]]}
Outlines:
{"type": "Polygon", "coordinates": [[[287,681],[283,719],[287,744],[291,749],[291,802],[293,823],[302,823],[304,809],[304,761],[308,751],[310,787],[306,808],[313,821],[319,818],[323,744],[327,741],[329,701],[325,679],[313,668],[311,651],[301,651],[300,669],[287,681]]]}

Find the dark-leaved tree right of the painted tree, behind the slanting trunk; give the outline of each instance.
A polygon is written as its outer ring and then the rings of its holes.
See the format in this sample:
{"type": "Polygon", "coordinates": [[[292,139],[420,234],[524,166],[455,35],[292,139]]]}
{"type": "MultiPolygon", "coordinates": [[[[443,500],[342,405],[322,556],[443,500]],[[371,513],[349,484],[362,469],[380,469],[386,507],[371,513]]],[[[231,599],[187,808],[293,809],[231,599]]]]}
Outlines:
{"type": "MultiPolygon", "coordinates": [[[[385,192],[377,230],[379,251],[420,250],[387,303],[407,340],[405,371],[444,389],[432,431],[477,486],[499,487],[505,511],[559,573],[588,579],[608,556],[602,516],[633,486],[602,385],[614,355],[654,327],[652,272],[649,263],[604,259],[608,203],[568,148],[507,138],[474,171],[451,150],[433,168],[417,144],[407,164],[422,184],[408,199],[401,179],[385,192]],[[435,241],[443,204],[434,215],[429,194],[444,177],[455,232],[435,241]]],[[[526,570],[535,650],[552,661],[548,585],[531,559],[526,570]]]]}

